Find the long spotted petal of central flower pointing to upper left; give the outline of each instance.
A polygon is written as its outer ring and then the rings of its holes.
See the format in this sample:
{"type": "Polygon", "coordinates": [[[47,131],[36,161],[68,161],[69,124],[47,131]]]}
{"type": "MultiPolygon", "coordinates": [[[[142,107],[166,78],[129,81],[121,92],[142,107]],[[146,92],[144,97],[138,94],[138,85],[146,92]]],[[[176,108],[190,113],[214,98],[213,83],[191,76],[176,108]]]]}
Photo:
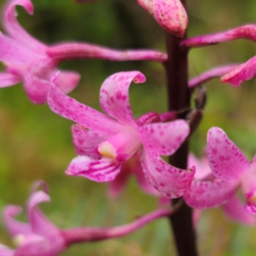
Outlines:
{"type": "Polygon", "coordinates": [[[121,130],[122,125],[103,113],[85,106],[71,97],[66,96],[55,84],[51,84],[48,96],[49,108],[66,119],[71,119],[87,129],[102,132],[102,135],[112,135],[121,130]]]}

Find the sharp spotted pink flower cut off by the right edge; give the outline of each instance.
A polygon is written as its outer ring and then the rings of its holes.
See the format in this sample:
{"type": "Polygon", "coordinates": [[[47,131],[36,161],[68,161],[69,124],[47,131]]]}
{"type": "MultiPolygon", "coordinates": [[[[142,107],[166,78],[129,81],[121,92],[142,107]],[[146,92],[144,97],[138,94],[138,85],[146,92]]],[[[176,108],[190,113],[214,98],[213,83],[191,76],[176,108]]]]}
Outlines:
{"type": "Polygon", "coordinates": [[[239,213],[241,202],[234,199],[238,187],[246,198],[247,212],[256,213],[256,158],[250,163],[241,149],[230,141],[218,127],[212,127],[207,135],[207,158],[212,172],[204,178],[194,180],[183,195],[191,207],[217,207],[230,200],[226,212],[239,213]],[[232,212],[236,208],[237,212],[232,212]]]}

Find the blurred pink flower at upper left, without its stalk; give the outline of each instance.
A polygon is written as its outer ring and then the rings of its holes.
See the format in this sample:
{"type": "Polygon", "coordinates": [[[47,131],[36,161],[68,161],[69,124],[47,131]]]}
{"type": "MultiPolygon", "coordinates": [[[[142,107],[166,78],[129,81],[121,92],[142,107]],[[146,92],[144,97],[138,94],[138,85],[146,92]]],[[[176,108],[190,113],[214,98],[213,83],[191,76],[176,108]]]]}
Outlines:
{"type": "MultiPolygon", "coordinates": [[[[48,47],[32,38],[16,20],[16,5],[32,15],[30,0],[9,0],[3,10],[3,27],[8,36],[0,34],[0,61],[6,72],[0,73],[0,87],[18,84],[21,81],[27,95],[35,104],[47,102],[49,80],[56,73],[57,61],[47,55],[48,47]]],[[[65,93],[79,83],[80,76],[74,72],[61,71],[55,84],[65,93]]]]}

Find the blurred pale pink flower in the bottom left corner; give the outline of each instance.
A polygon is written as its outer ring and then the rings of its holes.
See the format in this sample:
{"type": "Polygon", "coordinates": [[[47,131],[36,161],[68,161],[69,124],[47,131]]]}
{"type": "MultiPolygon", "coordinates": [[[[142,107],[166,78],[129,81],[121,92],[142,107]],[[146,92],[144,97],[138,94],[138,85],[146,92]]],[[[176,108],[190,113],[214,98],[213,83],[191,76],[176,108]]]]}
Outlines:
{"type": "Polygon", "coordinates": [[[18,245],[15,256],[54,256],[67,247],[61,230],[51,224],[38,208],[38,204],[44,201],[50,201],[47,186],[43,182],[38,182],[27,203],[29,223],[15,220],[15,215],[21,211],[20,207],[9,206],[4,210],[4,224],[18,245]],[[44,186],[45,192],[36,191],[39,185],[44,186]]]}

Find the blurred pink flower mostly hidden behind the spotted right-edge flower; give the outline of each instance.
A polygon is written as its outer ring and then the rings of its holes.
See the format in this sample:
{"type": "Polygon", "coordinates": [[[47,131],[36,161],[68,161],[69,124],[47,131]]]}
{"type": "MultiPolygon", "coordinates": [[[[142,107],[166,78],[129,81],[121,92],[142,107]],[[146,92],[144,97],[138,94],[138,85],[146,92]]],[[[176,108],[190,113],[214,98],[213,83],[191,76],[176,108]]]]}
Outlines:
{"type": "MultiPolygon", "coordinates": [[[[196,166],[195,181],[213,180],[215,177],[212,175],[211,168],[208,164],[207,156],[197,159],[194,154],[189,154],[189,166],[196,166]]],[[[254,216],[245,211],[243,202],[238,195],[233,195],[228,201],[220,205],[224,214],[231,220],[240,222],[241,224],[255,224],[254,216]]],[[[195,222],[201,215],[201,209],[195,208],[195,222]]]]}

